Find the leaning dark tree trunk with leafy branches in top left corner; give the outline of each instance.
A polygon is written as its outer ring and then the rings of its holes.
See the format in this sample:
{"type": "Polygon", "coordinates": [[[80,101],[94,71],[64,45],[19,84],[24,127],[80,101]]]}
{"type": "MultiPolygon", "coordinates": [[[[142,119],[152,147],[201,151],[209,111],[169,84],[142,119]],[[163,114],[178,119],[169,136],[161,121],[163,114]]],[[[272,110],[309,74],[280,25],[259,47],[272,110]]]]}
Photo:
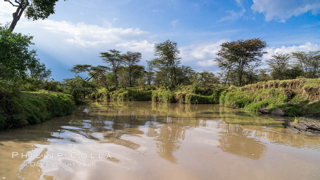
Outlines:
{"type": "MultiPolygon", "coordinates": [[[[54,14],[54,6],[58,0],[4,0],[12,6],[17,7],[16,12],[12,14],[12,22],[9,27],[13,31],[22,13],[25,11],[25,17],[29,20],[46,19],[50,14],[54,14]]],[[[66,1],[66,0],[64,0],[66,1]]]]}

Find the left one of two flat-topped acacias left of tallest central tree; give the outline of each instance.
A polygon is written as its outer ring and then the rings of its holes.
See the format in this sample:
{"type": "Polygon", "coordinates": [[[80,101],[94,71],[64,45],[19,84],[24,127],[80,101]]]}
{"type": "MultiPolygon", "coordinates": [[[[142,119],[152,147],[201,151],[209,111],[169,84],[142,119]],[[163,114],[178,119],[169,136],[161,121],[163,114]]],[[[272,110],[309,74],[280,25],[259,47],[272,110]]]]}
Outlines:
{"type": "Polygon", "coordinates": [[[118,67],[121,66],[124,61],[120,53],[121,51],[117,51],[115,49],[110,49],[109,52],[100,52],[100,58],[102,58],[102,61],[108,66],[111,66],[116,79],[116,87],[118,87],[118,67]]]}

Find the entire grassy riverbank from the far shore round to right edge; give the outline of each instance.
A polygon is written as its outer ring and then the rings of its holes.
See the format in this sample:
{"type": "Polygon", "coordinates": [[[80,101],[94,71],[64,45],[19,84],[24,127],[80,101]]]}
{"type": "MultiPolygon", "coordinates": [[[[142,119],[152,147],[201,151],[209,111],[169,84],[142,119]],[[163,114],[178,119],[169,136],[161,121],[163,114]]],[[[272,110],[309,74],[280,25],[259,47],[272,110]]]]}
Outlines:
{"type": "Polygon", "coordinates": [[[268,107],[269,113],[284,108],[289,116],[320,116],[320,79],[268,81],[244,87],[180,86],[174,91],[155,85],[118,88],[101,92],[93,98],[114,101],[153,101],[184,104],[220,104],[224,107],[258,111],[268,107]]]}

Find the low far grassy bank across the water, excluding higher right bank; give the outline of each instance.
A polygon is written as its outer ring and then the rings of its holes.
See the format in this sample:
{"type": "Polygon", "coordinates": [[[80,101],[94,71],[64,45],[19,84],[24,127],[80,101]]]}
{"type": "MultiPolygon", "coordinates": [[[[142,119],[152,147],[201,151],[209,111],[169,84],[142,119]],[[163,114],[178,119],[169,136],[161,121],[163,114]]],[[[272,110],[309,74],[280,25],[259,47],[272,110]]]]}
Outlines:
{"type": "Polygon", "coordinates": [[[174,91],[158,89],[156,86],[119,88],[111,92],[100,92],[94,98],[114,101],[153,101],[184,104],[219,104],[219,97],[227,87],[197,85],[180,86],[174,91]]]}

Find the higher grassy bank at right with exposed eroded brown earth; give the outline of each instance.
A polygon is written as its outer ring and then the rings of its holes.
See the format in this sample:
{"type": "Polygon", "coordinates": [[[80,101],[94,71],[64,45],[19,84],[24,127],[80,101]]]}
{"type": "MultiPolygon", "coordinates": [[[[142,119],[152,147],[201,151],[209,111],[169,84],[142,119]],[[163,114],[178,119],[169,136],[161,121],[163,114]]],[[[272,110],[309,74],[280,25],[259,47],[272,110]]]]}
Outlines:
{"type": "Polygon", "coordinates": [[[320,79],[268,81],[231,87],[220,96],[220,105],[258,111],[268,107],[269,112],[284,108],[289,116],[320,116],[320,79]]]}

